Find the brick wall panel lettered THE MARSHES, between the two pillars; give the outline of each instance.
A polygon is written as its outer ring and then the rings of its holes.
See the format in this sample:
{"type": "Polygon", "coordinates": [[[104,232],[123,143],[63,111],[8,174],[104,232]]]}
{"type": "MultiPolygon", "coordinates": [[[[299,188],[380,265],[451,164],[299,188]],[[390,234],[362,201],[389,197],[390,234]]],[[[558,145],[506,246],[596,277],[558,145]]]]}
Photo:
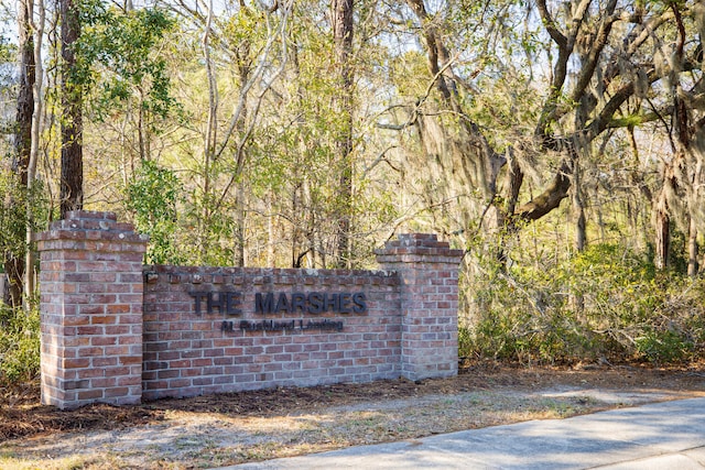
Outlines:
{"type": "Polygon", "coordinates": [[[145,272],[145,400],[400,376],[399,277],[388,272],[145,272]]]}

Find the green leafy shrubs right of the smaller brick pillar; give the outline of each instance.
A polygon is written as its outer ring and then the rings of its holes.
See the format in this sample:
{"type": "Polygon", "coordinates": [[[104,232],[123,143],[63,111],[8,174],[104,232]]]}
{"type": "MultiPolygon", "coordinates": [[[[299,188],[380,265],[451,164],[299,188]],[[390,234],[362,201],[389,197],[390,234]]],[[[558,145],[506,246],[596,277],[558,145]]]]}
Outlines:
{"type": "Polygon", "coordinates": [[[705,354],[704,287],[616,244],[544,270],[489,271],[466,295],[465,353],[540,363],[696,359],[705,354]]]}

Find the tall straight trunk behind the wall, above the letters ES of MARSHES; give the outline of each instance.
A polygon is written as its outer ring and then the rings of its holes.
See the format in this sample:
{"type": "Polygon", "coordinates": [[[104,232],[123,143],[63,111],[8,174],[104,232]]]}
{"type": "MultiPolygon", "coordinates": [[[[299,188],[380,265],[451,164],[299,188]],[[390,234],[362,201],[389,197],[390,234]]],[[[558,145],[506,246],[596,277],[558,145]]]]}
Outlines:
{"type": "Polygon", "coordinates": [[[336,264],[340,267],[350,264],[350,216],[352,198],[352,12],[354,0],[333,0],[333,34],[338,63],[340,94],[336,98],[338,112],[343,117],[337,138],[337,159],[339,164],[338,243],[336,264]]]}

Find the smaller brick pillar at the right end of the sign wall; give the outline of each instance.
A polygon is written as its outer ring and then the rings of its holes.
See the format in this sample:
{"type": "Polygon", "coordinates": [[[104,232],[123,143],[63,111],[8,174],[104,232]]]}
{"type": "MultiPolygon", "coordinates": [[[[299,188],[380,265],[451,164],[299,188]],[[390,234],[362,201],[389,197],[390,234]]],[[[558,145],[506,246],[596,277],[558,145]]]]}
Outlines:
{"type": "Polygon", "coordinates": [[[377,261],[401,277],[402,376],[444,378],[458,372],[458,265],[435,234],[400,234],[377,250],[377,261]]]}

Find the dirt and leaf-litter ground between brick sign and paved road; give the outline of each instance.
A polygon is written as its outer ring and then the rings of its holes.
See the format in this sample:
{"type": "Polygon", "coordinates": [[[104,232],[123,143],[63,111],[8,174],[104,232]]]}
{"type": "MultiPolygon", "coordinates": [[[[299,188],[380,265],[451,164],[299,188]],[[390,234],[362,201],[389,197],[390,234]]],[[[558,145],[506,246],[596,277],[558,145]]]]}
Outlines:
{"type": "Polygon", "coordinates": [[[2,391],[1,469],[194,469],[705,396],[705,364],[465,364],[457,378],[163,400],[62,412],[2,391]]]}

